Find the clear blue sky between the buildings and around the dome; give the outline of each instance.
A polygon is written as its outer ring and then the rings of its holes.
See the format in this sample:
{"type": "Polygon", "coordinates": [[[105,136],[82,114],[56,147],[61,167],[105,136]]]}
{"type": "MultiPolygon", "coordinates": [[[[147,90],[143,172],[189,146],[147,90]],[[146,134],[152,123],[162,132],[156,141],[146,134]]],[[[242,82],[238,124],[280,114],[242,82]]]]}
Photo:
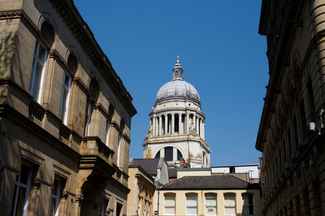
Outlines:
{"type": "Polygon", "coordinates": [[[142,143],[159,88],[177,55],[201,97],[211,163],[258,161],[255,147],[268,82],[261,1],[75,0],[133,97],[130,157],[142,143]]]}

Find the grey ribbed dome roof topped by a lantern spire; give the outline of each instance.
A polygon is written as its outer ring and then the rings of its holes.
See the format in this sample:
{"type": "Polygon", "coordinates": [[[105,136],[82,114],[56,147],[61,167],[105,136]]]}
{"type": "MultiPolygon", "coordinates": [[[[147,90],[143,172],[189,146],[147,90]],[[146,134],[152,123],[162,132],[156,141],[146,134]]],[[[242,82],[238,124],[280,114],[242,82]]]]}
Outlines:
{"type": "Polygon", "coordinates": [[[199,93],[191,84],[183,79],[183,72],[184,70],[179,62],[179,56],[177,56],[177,62],[173,68],[173,79],[159,89],[156,101],[167,99],[168,97],[181,96],[200,102],[199,93]]]}

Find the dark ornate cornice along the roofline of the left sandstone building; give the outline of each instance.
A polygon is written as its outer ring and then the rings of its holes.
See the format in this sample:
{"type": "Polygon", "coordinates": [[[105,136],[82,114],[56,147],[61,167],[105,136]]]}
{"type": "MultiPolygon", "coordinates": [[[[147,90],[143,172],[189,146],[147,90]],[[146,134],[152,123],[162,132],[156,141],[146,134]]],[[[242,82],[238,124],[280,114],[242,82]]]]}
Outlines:
{"type": "Polygon", "coordinates": [[[121,79],[116,74],[111,66],[107,56],[103,53],[98,43],[96,42],[91,30],[78,13],[75,6],[67,0],[49,0],[52,6],[56,9],[59,16],[69,27],[71,33],[75,36],[80,46],[88,54],[98,72],[107,82],[112,92],[117,96],[126,111],[132,117],[135,115],[136,109],[132,104],[132,97],[125,89],[121,79]]]}

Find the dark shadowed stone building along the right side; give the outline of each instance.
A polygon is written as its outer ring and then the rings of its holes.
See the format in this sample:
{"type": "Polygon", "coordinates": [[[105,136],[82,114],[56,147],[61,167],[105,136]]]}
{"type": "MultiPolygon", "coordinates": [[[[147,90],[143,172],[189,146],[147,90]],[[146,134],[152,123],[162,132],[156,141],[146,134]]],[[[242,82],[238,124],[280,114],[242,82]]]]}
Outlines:
{"type": "Polygon", "coordinates": [[[325,214],[324,12],[323,1],[262,1],[270,78],[255,148],[266,216],[325,214]]]}

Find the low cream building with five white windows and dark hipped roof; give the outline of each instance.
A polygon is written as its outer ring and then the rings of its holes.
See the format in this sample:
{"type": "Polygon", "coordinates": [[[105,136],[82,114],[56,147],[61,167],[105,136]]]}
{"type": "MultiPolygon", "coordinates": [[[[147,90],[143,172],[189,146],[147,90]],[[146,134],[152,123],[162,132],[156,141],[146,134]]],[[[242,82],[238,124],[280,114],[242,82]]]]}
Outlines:
{"type": "Polygon", "coordinates": [[[262,215],[260,187],[232,175],[183,176],[159,188],[158,200],[159,215],[262,215]]]}

